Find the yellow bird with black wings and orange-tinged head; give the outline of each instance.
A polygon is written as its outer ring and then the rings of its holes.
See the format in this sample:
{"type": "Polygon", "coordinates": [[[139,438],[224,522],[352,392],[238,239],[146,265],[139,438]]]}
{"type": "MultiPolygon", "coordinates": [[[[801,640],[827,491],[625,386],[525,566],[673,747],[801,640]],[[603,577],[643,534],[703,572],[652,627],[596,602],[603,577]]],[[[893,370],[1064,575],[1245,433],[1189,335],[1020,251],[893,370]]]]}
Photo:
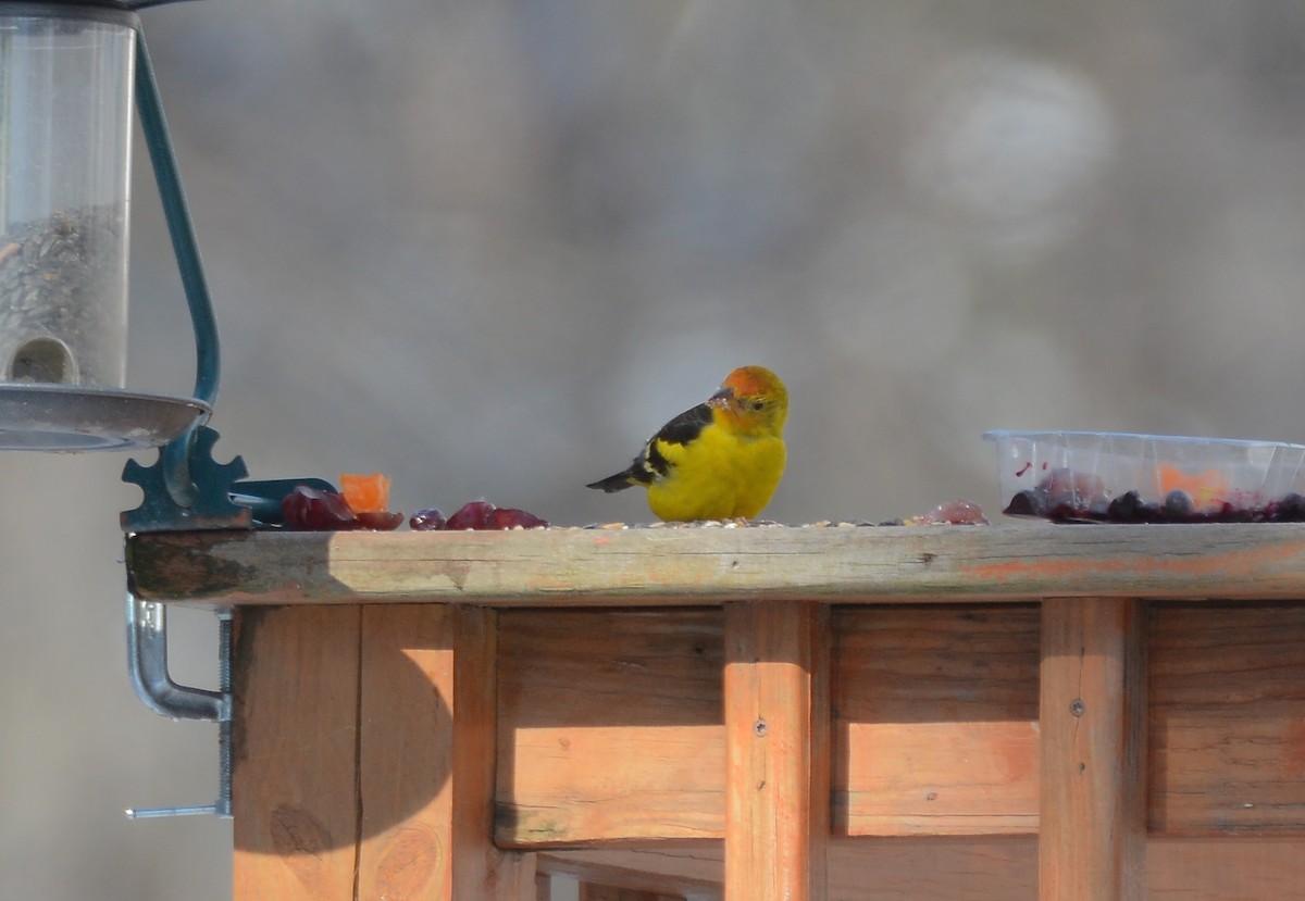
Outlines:
{"type": "Polygon", "coordinates": [[[784,475],[788,389],[763,366],[743,366],[720,390],[647,439],[629,468],[587,488],[649,490],[667,522],[750,519],[784,475]]]}

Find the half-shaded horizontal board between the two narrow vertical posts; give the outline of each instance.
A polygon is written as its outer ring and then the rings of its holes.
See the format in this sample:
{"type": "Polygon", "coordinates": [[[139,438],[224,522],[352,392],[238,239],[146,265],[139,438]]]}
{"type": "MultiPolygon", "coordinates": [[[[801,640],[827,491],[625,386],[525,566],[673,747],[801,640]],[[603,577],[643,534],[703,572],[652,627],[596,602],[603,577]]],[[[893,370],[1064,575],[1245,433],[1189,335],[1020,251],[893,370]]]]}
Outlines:
{"type": "Polygon", "coordinates": [[[834,828],[1037,832],[1039,609],[834,613],[834,828]]]}

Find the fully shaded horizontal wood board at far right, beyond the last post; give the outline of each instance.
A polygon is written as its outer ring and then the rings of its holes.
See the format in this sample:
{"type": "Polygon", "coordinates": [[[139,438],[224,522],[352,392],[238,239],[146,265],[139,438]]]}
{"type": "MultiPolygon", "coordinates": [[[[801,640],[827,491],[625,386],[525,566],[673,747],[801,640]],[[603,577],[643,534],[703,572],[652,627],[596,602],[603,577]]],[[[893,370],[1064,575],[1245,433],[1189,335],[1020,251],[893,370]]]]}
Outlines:
{"type": "Polygon", "coordinates": [[[1158,605],[1150,828],[1305,835],[1305,604],[1158,605]]]}

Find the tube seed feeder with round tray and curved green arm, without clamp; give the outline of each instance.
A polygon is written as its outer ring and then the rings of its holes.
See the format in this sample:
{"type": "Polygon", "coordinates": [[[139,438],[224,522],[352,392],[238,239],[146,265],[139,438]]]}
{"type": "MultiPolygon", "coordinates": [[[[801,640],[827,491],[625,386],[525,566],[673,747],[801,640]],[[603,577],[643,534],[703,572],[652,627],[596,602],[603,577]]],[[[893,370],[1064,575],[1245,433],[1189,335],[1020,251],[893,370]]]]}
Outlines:
{"type": "Polygon", "coordinates": [[[147,3],[0,0],[0,449],[154,447],[211,412],[217,338],[132,10],[147,3]],[[133,94],[201,346],[194,396],[127,389],[133,94]]]}

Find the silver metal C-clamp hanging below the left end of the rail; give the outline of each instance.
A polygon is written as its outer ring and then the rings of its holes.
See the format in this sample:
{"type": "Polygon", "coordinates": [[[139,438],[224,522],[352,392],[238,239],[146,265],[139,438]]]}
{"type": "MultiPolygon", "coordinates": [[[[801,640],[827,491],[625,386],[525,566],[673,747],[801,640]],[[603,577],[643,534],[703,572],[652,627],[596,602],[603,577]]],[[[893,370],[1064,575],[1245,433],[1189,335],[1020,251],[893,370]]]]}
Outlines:
{"type": "Polygon", "coordinates": [[[128,819],[231,816],[231,612],[218,612],[218,690],[177,685],[167,670],[167,606],[127,596],[127,669],[141,702],[172,720],[218,724],[218,799],[187,807],[132,807],[128,819]]]}

